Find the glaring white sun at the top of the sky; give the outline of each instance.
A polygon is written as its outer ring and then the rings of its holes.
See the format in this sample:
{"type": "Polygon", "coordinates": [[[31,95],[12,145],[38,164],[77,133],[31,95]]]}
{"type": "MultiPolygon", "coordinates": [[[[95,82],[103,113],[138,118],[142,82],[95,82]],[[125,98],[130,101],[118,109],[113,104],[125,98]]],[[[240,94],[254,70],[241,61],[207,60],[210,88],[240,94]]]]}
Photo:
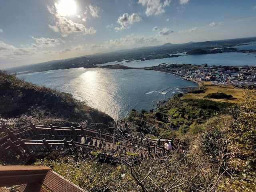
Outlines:
{"type": "Polygon", "coordinates": [[[60,0],[55,3],[55,6],[60,16],[70,16],[76,13],[76,2],[74,0],[60,0]]]}

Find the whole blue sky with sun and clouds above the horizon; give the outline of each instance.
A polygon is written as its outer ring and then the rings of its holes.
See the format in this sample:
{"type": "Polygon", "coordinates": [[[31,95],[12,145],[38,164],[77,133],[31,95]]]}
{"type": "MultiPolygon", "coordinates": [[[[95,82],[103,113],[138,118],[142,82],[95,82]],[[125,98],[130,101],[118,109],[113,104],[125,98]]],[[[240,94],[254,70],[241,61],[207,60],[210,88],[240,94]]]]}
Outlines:
{"type": "Polygon", "coordinates": [[[255,0],[2,0],[0,69],[256,36],[255,0]]]}

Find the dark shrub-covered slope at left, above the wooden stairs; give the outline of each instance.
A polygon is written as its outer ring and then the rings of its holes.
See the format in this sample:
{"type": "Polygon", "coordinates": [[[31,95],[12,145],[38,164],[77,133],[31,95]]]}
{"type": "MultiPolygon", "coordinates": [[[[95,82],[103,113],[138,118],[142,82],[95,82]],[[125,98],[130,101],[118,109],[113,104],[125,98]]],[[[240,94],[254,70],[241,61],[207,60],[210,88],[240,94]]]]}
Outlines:
{"type": "MultiPolygon", "coordinates": [[[[86,106],[71,94],[37,86],[0,70],[0,115],[4,119],[26,116],[62,118],[71,122],[108,124],[107,114],[86,106]]],[[[43,118],[43,117],[41,117],[43,118]]]]}

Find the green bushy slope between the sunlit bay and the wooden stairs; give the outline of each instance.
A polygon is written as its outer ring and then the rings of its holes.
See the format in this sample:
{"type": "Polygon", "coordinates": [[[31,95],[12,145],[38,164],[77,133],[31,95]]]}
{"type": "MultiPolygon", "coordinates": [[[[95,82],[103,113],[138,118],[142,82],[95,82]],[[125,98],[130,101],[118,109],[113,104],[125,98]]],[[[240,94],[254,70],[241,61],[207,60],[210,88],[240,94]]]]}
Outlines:
{"type": "Polygon", "coordinates": [[[175,138],[188,131],[198,132],[194,130],[196,125],[217,114],[227,114],[231,106],[227,102],[186,98],[183,94],[176,94],[157,112],[132,111],[125,120],[132,124],[138,134],[152,138],[175,138]]]}

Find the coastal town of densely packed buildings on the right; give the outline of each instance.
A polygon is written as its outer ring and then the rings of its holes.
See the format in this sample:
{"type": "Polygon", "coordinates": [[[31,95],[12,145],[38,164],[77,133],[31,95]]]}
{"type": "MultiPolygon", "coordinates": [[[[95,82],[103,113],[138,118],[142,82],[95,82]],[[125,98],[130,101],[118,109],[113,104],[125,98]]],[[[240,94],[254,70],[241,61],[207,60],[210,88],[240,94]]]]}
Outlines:
{"type": "Polygon", "coordinates": [[[256,86],[256,68],[244,65],[242,67],[232,66],[208,66],[208,64],[160,64],[155,67],[158,70],[170,71],[180,76],[186,76],[200,81],[230,82],[236,87],[245,85],[256,86]]]}

